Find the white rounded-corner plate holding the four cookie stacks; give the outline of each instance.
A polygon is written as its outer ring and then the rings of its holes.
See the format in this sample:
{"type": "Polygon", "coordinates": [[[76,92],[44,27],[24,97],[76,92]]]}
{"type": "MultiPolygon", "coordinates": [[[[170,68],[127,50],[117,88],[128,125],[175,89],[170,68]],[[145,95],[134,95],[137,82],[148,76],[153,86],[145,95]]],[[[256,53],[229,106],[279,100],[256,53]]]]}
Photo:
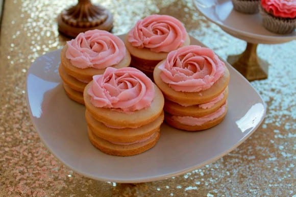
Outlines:
{"type": "MultiPolygon", "coordinates": [[[[192,44],[202,45],[191,38],[192,44]]],[[[229,111],[221,124],[185,132],[166,124],[153,149],[131,157],[110,156],[88,140],[85,107],[66,96],[58,74],[60,50],[39,57],[29,68],[27,102],[33,125],[47,148],[86,177],[120,183],[148,182],[192,171],[229,153],[246,140],[265,116],[260,95],[227,62],[229,111]]]]}

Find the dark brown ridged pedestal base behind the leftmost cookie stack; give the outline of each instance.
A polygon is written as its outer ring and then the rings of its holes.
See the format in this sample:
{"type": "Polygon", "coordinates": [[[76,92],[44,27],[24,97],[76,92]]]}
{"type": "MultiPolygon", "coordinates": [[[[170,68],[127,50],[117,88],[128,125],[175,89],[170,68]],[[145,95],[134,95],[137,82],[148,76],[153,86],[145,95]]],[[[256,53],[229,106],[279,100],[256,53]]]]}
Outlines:
{"type": "Polygon", "coordinates": [[[102,6],[91,4],[90,0],[79,0],[76,6],[59,14],[58,27],[59,32],[71,38],[88,30],[111,31],[113,16],[102,6]]]}

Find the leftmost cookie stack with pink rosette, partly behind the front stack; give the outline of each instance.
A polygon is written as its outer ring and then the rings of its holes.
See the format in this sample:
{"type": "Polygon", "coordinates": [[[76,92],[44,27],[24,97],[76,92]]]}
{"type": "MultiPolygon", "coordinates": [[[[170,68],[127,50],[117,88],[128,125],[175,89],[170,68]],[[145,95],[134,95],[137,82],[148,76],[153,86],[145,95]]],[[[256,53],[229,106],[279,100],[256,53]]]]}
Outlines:
{"type": "Polygon", "coordinates": [[[84,104],[83,90],[93,75],[102,74],[110,66],[127,67],[130,62],[130,53],[119,37],[90,30],[67,41],[61,51],[59,73],[70,99],[84,104]]]}

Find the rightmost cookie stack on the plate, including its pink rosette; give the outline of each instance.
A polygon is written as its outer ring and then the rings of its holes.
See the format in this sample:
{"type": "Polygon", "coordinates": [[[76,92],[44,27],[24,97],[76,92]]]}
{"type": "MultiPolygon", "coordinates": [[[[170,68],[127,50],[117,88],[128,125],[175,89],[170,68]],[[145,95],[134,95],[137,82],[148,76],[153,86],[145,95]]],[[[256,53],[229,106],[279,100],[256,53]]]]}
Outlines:
{"type": "Polygon", "coordinates": [[[227,113],[229,71],[212,50],[198,45],[172,51],[154,69],[165,97],[165,121],[186,131],[218,125],[227,113]]]}

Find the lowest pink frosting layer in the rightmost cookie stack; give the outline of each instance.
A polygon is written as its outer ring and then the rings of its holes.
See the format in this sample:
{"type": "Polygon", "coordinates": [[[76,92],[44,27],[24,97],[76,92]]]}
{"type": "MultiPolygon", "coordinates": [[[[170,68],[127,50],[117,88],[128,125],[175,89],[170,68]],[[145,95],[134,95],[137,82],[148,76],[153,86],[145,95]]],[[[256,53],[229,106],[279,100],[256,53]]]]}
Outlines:
{"type": "Polygon", "coordinates": [[[192,117],[192,116],[171,116],[171,118],[175,121],[180,122],[181,124],[184,124],[184,125],[200,126],[200,125],[205,124],[208,121],[211,121],[213,119],[220,117],[221,115],[224,114],[225,110],[226,110],[226,104],[221,106],[214,113],[211,113],[211,114],[203,116],[203,117],[197,118],[197,117],[192,117]]]}

